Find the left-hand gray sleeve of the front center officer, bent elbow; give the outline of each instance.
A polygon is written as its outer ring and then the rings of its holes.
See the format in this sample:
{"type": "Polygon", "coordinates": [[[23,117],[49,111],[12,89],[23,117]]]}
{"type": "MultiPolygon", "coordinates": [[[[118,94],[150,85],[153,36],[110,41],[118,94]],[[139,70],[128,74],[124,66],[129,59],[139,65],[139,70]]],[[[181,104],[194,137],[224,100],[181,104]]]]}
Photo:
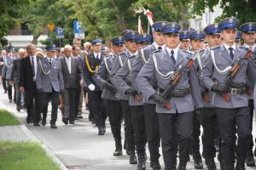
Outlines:
{"type": "Polygon", "coordinates": [[[147,100],[155,93],[154,88],[150,85],[150,81],[154,78],[154,61],[151,55],[136,78],[137,86],[147,100]]]}

